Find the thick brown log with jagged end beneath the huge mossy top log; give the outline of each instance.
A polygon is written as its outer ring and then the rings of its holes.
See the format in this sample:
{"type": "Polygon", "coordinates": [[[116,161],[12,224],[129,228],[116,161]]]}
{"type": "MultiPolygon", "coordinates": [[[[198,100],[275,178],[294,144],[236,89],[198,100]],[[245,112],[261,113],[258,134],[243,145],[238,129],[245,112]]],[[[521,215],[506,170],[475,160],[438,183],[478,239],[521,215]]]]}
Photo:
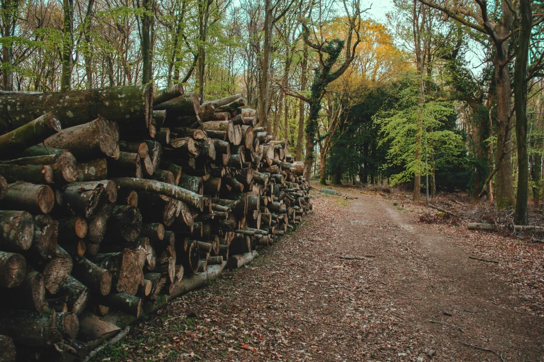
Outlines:
{"type": "Polygon", "coordinates": [[[65,128],[44,141],[46,147],[65,148],[78,160],[112,156],[117,147],[117,123],[98,117],[80,126],[65,128]]]}

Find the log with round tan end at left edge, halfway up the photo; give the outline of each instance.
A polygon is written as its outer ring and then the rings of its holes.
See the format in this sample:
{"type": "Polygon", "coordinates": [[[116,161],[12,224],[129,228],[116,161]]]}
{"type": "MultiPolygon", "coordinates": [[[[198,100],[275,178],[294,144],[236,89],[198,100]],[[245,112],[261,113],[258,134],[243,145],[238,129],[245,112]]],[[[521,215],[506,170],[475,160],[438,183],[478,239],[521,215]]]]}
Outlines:
{"type": "Polygon", "coordinates": [[[55,193],[47,185],[15,182],[8,185],[8,193],[0,205],[3,209],[49,214],[55,205],[55,193]]]}

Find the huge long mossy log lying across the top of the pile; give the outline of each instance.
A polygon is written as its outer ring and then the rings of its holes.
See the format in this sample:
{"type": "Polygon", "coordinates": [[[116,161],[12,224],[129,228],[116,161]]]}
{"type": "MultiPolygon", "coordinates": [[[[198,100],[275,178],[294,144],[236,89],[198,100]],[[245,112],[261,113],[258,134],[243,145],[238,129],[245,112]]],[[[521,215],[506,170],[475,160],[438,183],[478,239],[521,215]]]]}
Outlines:
{"type": "Polygon", "coordinates": [[[0,96],[0,133],[14,130],[52,112],[69,128],[99,115],[110,121],[147,128],[151,123],[152,85],[129,85],[48,94],[0,96]]]}

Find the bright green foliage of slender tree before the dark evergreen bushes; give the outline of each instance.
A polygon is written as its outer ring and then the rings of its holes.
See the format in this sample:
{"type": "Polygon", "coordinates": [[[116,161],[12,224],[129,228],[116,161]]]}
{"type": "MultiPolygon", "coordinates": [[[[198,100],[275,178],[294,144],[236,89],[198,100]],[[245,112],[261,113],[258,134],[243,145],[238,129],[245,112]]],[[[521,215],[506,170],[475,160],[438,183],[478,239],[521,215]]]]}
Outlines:
{"type": "Polygon", "coordinates": [[[409,74],[396,87],[391,87],[393,89],[397,92],[389,96],[395,99],[395,106],[384,105],[373,117],[379,126],[378,146],[386,148],[387,162],[382,168],[392,171],[390,184],[410,182],[416,173],[426,175],[451,168],[465,170],[465,144],[463,137],[456,132],[452,102],[431,99],[420,107],[418,81],[409,74]],[[423,124],[419,135],[422,149],[420,159],[416,160],[418,117],[423,124]]]}

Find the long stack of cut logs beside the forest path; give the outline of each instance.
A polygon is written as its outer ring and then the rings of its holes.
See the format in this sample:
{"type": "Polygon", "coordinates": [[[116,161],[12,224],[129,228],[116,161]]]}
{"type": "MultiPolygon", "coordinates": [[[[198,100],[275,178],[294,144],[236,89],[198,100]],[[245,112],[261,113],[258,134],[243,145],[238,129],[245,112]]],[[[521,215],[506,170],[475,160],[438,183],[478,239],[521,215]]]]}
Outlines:
{"type": "Polygon", "coordinates": [[[1,361],[75,359],[311,210],[242,94],[0,95],[1,361]]]}

